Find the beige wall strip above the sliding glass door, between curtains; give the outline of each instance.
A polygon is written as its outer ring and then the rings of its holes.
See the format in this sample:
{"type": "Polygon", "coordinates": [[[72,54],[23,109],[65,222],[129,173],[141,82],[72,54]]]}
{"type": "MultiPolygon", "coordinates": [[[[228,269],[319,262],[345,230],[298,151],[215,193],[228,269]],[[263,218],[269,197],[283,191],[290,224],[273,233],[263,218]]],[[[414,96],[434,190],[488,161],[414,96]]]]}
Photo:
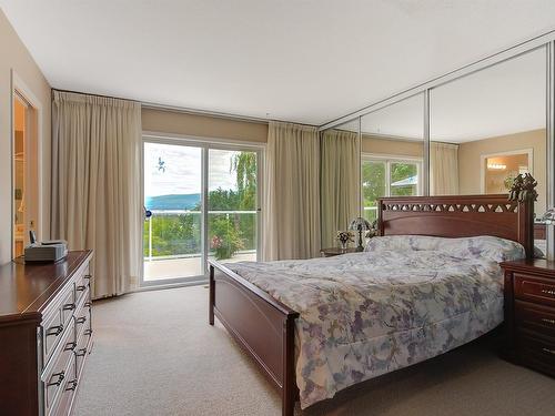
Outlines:
{"type": "Polygon", "coordinates": [[[142,130],[256,143],[265,143],[268,140],[268,124],[263,122],[220,119],[158,109],[142,110],[142,130]]]}

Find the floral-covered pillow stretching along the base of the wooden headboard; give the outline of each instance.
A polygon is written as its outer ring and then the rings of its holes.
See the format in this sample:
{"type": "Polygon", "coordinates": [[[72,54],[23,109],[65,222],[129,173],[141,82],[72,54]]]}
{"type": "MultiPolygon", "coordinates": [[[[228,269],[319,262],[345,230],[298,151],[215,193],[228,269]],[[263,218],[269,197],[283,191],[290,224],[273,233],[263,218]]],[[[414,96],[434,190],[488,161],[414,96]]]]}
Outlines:
{"type": "Polygon", "coordinates": [[[519,243],[491,235],[462,239],[389,235],[371,239],[365,251],[437,251],[458,258],[488,258],[494,262],[525,257],[524,247],[519,243]]]}

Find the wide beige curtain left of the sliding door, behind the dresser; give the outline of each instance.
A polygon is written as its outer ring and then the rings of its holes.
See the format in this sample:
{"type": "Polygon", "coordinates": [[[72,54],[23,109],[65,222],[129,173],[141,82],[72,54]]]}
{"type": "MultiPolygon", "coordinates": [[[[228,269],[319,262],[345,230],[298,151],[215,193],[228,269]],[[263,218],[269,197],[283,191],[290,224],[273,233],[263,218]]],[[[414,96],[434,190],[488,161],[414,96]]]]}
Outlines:
{"type": "Polygon", "coordinates": [[[138,283],[140,155],[139,103],[53,92],[52,235],[94,250],[94,298],[138,283]]]}

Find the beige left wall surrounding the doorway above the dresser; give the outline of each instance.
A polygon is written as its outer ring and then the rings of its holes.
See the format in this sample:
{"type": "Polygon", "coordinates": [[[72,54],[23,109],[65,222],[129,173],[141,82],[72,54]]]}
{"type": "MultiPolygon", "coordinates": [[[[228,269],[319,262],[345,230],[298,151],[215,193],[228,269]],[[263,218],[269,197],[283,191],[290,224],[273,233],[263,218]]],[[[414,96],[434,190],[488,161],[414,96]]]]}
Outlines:
{"type": "Polygon", "coordinates": [[[50,223],[50,85],[0,10],[0,263],[11,257],[11,70],[42,105],[39,125],[42,145],[43,237],[50,223]]]}

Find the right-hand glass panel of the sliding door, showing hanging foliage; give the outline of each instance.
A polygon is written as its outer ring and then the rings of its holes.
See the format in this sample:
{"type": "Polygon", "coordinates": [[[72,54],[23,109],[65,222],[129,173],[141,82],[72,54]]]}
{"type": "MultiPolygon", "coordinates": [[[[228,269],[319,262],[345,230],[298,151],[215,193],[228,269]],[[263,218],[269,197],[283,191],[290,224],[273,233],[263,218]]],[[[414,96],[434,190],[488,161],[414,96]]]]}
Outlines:
{"type": "Polygon", "coordinates": [[[256,152],[210,149],[208,175],[209,257],[256,261],[256,152]]]}

